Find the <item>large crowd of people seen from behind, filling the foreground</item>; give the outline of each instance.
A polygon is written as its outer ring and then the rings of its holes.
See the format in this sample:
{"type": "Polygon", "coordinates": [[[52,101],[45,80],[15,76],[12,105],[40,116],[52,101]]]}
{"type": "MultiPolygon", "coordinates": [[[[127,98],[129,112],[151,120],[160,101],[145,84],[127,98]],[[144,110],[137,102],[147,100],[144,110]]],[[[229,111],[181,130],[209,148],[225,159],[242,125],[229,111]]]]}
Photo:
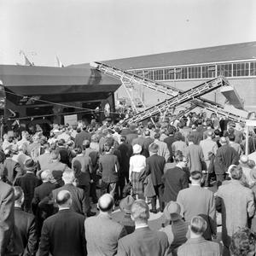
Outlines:
{"type": "Polygon", "coordinates": [[[0,255],[255,255],[254,131],[225,124],[201,112],[4,134],[0,255]]]}

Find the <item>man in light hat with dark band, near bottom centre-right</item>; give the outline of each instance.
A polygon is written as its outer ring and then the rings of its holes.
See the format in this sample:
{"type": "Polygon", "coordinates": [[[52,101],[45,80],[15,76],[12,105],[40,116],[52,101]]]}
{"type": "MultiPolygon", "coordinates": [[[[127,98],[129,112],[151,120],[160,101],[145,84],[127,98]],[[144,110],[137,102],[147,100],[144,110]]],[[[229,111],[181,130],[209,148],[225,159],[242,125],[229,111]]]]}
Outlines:
{"type": "Polygon", "coordinates": [[[172,255],[177,255],[177,247],[181,246],[189,238],[189,226],[182,219],[183,206],[176,201],[170,201],[166,205],[164,216],[170,224],[160,231],[164,231],[168,236],[172,255]]]}

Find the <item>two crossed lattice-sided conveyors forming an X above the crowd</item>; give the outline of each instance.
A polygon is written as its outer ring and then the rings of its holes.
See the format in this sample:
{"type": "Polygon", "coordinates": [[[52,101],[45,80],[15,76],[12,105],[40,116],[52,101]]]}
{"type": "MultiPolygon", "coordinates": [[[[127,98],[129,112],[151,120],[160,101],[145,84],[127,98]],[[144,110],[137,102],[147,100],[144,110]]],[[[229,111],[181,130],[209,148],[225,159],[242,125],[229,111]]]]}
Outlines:
{"type": "Polygon", "coordinates": [[[213,113],[219,113],[227,118],[236,120],[237,122],[245,119],[244,117],[236,115],[235,113],[225,112],[223,106],[219,105],[216,102],[212,102],[200,97],[212,90],[218,89],[221,86],[230,85],[228,80],[224,79],[224,77],[212,79],[210,81],[207,81],[207,83],[200,84],[190,90],[186,90],[183,92],[182,90],[178,90],[177,88],[174,88],[171,85],[161,84],[155,82],[154,80],[140,77],[136,74],[129,73],[117,67],[112,67],[102,62],[92,62],[90,63],[90,66],[95,67],[102,73],[112,76],[113,78],[120,79],[123,84],[124,82],[131,84],[139,84],[149,89],[159,91],[160,93],[166,94],[168,96],[172,96],[172,98],[167,99],[165,102],[160,102],[156,106],[148,108],[143,112],[137,113],[137,115],[134,115],[133,117],[126,119],[129,123],[139,122],[143,119],[148,119],[154,116],[156,113],[163,113],[170,108],[176,108],[178,105],[181,105],[184,102],[189,102],[195,98],[197,98],[196,104],[195,102],[191,102],[190,107],[188,109],[193,109],[198,106],[201,108],[207,108],[207,110],[213,113]]]}

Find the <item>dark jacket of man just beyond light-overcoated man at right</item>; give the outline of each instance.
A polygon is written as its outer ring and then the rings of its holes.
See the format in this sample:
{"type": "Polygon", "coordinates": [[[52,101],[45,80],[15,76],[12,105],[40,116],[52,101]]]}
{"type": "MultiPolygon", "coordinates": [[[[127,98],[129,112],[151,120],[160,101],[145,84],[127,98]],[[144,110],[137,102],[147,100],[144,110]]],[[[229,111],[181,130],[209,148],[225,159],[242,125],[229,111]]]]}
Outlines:
{"type": "Polygon", "coordinates": [[[224,145],[217,149],[214,169],[216,174],[224,174],[228,171],[230,165],[238,165],[239,155],[237,154],[235,148],[228,145],[224,145]]]}

